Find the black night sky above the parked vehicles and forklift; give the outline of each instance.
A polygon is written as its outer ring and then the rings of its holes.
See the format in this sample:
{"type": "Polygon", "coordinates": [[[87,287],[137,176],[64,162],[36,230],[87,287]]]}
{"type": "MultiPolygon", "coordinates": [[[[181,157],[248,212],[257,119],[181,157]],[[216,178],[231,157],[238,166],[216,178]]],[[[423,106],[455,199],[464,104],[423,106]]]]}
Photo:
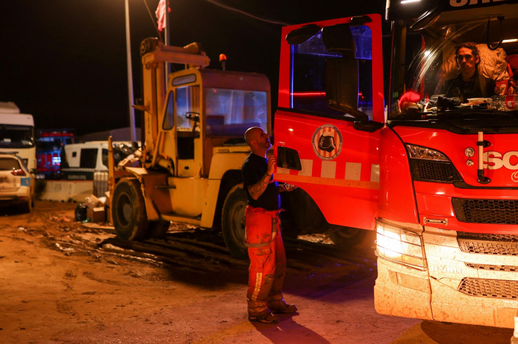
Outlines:
{"type": "MultiPolygon", "coordinates": [[[[146,0],[153,14],[159,0],[146,0]]],[[[289,24],[383,13],[383,0],[217,0],[289,24]]],[[[198,41],[221,68],[265,73],[277,105],[281,25],[205,0],[170,0],[171,45],[198,41]]],[[[144,0],[130,0],[134,96],[140,97],[140,41],[156,37],[144,0]]],[[[37,128],[78,134],[129,125],[124,0],[5,0],[0,14],[0,101],[34,115],[37,128]]],[[[387,47],[384,47],[386,49],[387,47]]],[[[136,112],[136,117],[139,113],[136,112]]],[[[138,120],[138,119],[137,119],[138,120]]]]}

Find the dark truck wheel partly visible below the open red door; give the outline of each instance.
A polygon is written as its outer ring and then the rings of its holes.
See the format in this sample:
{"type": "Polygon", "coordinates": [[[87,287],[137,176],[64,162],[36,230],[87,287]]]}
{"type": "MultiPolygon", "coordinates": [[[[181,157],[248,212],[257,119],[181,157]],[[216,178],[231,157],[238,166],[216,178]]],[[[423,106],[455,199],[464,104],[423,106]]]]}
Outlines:
{"type": "Polygon", "coordinates": [[[327,234],[340,248],[371,248],[376,240],[376,231],[337,225],[329,225],[327,234]]]}

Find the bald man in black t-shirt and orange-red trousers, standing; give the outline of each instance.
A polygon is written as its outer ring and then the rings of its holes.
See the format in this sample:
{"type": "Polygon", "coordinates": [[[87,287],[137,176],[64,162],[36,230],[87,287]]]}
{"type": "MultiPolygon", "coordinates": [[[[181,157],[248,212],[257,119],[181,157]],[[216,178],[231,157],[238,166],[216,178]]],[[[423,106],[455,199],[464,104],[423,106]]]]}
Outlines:
{"type": "Polygon", "coordinates": [[[272,179],[276,157],[266,158],[270,137],[263,129],[252,127],[244,133],[252,153],[241,168],[243,188],[247,192],[245,211],[245,244],[250,257],[248,278],[248,319],[277,323],[274,313],[294,313],[295,305],[284,302],[282,285],[286,271],[286,254],[280,231],[279,192],[292,191],[293,185],[281,185],[272,179]]]}

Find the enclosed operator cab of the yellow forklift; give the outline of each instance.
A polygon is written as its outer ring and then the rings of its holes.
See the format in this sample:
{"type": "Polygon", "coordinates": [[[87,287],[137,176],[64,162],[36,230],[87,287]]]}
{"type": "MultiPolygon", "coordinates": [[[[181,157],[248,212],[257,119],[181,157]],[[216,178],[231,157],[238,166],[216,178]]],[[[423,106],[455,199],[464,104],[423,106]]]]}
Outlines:
{"type": "Polygon", "coordinates": [[[168,80],[159,144],[175,176],[208,177],[214,147],[244,144],[244,131],[252,126],[270,131],[264,75],[191,68],[168,80]]]}

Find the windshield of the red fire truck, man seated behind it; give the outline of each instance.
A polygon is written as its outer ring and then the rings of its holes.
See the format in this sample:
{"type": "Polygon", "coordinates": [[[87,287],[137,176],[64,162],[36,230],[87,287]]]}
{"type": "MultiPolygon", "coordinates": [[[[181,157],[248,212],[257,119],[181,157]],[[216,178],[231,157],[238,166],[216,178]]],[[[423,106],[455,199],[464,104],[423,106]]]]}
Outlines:
{"type": "Polygon", "coordinates": [[[393,28],[389,119],[451,112],[518,121],[518,5],[443,12],[430,22],[393,28]]]}

